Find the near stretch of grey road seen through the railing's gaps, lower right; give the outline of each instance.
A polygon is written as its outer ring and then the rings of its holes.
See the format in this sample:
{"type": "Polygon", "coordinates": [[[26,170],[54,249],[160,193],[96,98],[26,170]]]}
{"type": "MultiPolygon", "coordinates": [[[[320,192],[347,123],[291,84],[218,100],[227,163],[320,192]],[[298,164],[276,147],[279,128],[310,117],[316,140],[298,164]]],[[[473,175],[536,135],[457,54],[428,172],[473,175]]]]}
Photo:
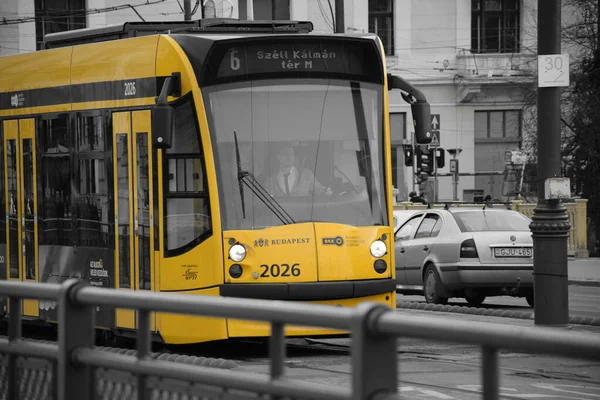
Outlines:
{"type": "MultiPolygon", "coordinates": [[[[464,320],[464,323],[474,318],[473,315],[453,314],[453,319],[464,320]]],[[[531,325],[531,321],[507,321],[505,318],[491,317],[489,321],[531,325]]],[[[600,328],[588,330],[600,334],[600,328]]],[[[308,340],[304,345],[305,350],[302,349],[302,340],[290,342],[300,342],[300,345],[288,347],[286,377],[310,385],[352,385],[349,339],[308,340]]],[[[498,358],[499,399],[600,398],[599,362],[510,350],[500,351],[498,358]]],[[[238,370],[269,374],[267,354],[254,354],[237,362],[240,365],[238,370]]],[[[398,341],[398,390],[402,399],[481,399],[481,350],[471,345],[401,338],[398,341]]]]}

